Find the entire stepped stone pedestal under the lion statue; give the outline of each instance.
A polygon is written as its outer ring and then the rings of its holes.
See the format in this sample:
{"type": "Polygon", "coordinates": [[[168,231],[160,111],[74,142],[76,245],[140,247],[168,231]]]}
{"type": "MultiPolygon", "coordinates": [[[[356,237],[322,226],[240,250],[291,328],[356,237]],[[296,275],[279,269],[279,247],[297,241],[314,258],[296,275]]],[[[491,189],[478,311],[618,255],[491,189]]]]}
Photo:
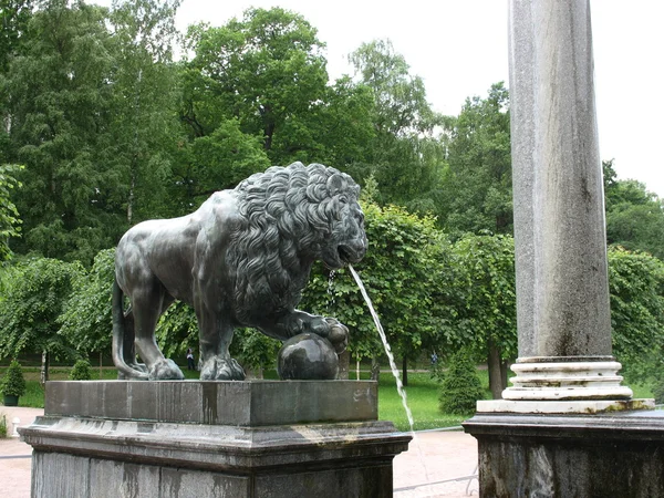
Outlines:
{"type": "Polygon", "coordinates": [[[409,435],[371,382],[50,382],[32,496],[384,497],[409,435]]]}

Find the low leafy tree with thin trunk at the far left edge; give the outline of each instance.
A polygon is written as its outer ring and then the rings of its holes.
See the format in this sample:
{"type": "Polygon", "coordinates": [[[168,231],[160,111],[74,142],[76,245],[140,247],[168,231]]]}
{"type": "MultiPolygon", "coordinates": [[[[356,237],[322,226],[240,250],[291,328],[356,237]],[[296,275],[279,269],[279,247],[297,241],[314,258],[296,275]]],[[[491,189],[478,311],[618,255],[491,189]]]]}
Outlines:
{"type": "Polygon", "coordinates": [[[0,356],[42,353],[42,383],[49,380],[50,356],[72,357],[73,346],[58,333],[62,312],[80,263],[37,258],[20,263],[3,301],[0,301],[0,356]]]}

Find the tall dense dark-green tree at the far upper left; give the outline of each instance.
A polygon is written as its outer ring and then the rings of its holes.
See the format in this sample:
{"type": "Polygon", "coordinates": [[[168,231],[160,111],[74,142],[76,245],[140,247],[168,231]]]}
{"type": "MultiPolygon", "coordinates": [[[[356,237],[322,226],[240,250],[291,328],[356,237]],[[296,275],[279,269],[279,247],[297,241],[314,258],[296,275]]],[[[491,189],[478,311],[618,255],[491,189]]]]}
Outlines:
{"type": "Polygon", "coordinates": [[[113,64],[106,11],[64,0],[42,6],[3,83],[11,116],[6,160],[25,166],[14,199],[23,217],[15,250],[92,261],[118,231],[101,197],[101,186],[113,183],[96,163],[113,64]]]}

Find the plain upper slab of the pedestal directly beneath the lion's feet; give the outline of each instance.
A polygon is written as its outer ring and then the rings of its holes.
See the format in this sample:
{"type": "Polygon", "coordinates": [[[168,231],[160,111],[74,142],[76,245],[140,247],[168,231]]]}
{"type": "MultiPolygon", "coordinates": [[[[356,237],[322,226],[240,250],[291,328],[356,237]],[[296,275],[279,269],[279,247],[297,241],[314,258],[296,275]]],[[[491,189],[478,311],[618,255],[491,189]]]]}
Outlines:
{"type": "Polygon", "coordinates": [[[371,381],[59,381],[45,415],[262,426],[377,419],[371,381]]]}

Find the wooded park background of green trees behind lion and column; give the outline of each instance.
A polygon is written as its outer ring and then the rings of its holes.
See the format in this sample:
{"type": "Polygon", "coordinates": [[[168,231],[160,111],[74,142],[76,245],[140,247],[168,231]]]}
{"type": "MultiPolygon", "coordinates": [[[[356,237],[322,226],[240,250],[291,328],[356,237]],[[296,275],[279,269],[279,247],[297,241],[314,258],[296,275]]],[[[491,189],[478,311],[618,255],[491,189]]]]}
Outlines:
{"type": "MultiPolygon", "coordinates": [[[[500,396],[517,356],[505,83],[444,114],[386,38],[359,43],[347,74],[331,77],[325,40],[294,11],[248,9],[178,31],[176,1],[0,3],[2,365],[37,361],[43,383],[51,363],[86,359],[114,376],[103,365],[122,234],[300,160],[336,167],[363,187],[370,250],[356,269],[411,400],[423,386],[440,417],[446,369],[465,359],[486,365],[481,395],[500,396]]],[[[619,178],[612,157],[602,166],[614,354],[630,384],[658,397],[663,203],[645,184],[619,178]]],[[[351,377],[360,365],[382,378],[385,355],[346,271],[317,267],[301,308],[349,325],[351,377]]],[[[157,333],[180,364],[197,346],[194,314],[181,303],[157,333]]],[[[270,376],[278,347],[251,330],[234,341],[257,375],[270,376]]],[[[37,401],[22,403],[43,402],[39,380],[37,401]]]]}

